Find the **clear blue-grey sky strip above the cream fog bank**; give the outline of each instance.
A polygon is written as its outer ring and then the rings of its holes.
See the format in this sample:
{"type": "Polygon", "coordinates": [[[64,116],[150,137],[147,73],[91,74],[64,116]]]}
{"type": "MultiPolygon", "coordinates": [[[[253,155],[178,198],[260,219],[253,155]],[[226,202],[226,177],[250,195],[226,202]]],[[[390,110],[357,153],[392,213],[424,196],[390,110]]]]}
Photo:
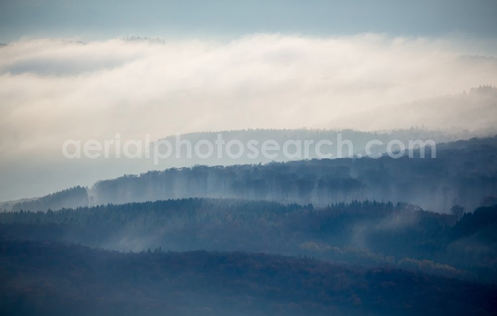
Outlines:
{"type": "Polygon", "coordinates": [[[495,0],[2,0],[0,42],[22,36],[317,36],[363,32],[495,37],[495,0]]]}

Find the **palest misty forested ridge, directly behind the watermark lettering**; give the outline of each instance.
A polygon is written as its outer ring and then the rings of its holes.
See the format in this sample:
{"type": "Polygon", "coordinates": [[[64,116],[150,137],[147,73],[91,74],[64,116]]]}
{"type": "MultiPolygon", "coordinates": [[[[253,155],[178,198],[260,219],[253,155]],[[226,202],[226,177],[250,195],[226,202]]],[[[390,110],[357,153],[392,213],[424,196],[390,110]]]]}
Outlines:
{"type": "MultiPolygon", "coordinates": [[[[483,137],[493,135],[496,131],[492,130],[481,130],[470,132],[468,130],[459,129],[447,129],[447,130],[426,130],[422,128],[410,128],[410,129],[396,129],[392,131],[376,131],[376,132],[365,132],[357,131],[352,129],[344,130],[330,130],[330,129],[248,129],[248,130],[231,130],[231,131],[217,131],[217,132],[196,132],[187,133],[181,135],[171,135],[164,140],[168,141],[174,150],[176,150],[176,143],[181,144],[181,141],[189,141],[193,146],[201,141],[206,140],[211,144],[216,144],[218,136],[220,136],[223,141],[228,144],[230,141],[240,141],[242,144],[248,144],[250,140],[257,141],[257,148],[260,149],[260,144],[266,140],[272,140],[279,144],[280,148],[288,140],[301,141],[302,143],[306,140],[313,140],[314,142],[309,144],[309,155],[308,157],[292,158],[303,159],[303,158],[320,158],[316,152],[316,144],[321,140],[332,141],[333,144],[338,143],[338,137],[341,140],[348,140],[353,144],[352,153],[355,155],[357,153],[364,154],[366,144],[371,140],[379,140],[382,145],[375,145],[375,152],[384,153],[386,152],[386,147],[388,142],[391,140],[399,140],[404,144],[409,144],[409,140],[433,140],[435,143],[447,143],[458,140],[468,140],[472,137],[483,137]]],[[[323,147],[325,148],[325,147],[323,147]]],[[[234,150],[235,151],[235,150],[234,150]]],[[[293,150],[289,149],[289,152],[293,150]]],[[[175,158],[175,155],[164,160],[164,165],[167,163],[179,161],[187,156],[187,149],[184,145],[179,146],[180,158],[175,158]]],[[[333,158],[338,156],[338,146],[326,146],[326,151],[323,153],[333,155],[333,158]]],[[[193,164],[206,164],[206,165],[231,165],[231,164],[253,164],[253,163],[267,163],[271,161],[288,161],[289,158],[285,157],[282,152],[275,152],[275,157],[265,158],[262,155],[258,155],[256,158],[249,158],[246,155],[242,155],[238,158],[230,158],[227,155],[223,157],[212,156],[211,158],[198,158],[195,152],[192,152],[192,157],[188,158],[189,165],[193,164]]],[[[347,158],[349,155],[348,148],[343,147],[342,156],[340,158],[347,158]]]]}

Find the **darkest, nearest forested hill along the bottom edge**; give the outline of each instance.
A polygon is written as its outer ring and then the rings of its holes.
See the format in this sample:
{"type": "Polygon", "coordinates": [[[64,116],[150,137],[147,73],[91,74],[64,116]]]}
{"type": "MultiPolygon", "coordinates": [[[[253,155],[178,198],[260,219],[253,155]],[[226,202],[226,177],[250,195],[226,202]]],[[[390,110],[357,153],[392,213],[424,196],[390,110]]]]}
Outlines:
{"type": "Polygon", "coordinates": [[[240,252],[118,253],[0,240],[4,315],[494,315],[497,289],[240,252]]]}

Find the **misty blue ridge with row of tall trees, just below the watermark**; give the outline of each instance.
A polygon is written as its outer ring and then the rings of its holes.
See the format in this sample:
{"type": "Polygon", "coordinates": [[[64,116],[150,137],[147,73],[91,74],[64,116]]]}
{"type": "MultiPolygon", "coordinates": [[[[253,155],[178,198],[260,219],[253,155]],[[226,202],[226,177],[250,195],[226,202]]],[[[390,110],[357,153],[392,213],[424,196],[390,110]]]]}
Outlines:
{"type": "Polygon", "coordinates": [[[102,180],[14,205],[47,210],[183,197],[226,197],[312,203],[352,200],[407,202],[448,213],[472,210],[497,196],[497,137],[437,144],[436,158],[311,159],[231,166],[196,165],[102,180]]]}

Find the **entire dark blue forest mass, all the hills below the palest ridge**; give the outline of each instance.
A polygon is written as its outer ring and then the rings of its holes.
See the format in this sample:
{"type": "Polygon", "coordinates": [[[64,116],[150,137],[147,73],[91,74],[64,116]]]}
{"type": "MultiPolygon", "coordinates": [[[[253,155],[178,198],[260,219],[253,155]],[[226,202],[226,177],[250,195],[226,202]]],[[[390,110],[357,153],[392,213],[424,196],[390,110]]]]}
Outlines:
{"type": "Polygon", "coordinates": [[[0,213],[0,310],[492,315],[495,153],[194,166],[23,201],[0,213]]]}

